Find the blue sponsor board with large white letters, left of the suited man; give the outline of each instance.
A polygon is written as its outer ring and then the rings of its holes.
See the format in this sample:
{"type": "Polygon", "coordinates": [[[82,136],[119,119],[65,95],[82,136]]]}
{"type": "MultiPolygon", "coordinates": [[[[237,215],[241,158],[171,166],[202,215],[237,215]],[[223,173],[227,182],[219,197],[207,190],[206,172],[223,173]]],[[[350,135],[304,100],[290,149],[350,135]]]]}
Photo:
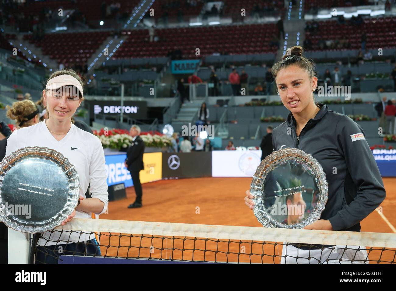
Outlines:
{"type": "Polygon", "coordinates": [[[105,155],[105,169],[107,174],[107,186],[125,183],[125,187],[133,186],[131,173],[125,167],[126,154],[105,155]]]}

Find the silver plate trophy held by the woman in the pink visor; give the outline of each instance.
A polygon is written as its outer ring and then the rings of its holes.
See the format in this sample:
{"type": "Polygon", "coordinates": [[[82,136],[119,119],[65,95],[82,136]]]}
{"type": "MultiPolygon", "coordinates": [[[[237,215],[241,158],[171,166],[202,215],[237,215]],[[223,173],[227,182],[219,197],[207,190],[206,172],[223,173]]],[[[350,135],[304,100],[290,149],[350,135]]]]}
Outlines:
{"type": "Polygon", "coordinates": [[[0,221],[22,232],[59,226],[78,204],[80,180],[61,153],[21,148],[0,162],[0,221]]]}

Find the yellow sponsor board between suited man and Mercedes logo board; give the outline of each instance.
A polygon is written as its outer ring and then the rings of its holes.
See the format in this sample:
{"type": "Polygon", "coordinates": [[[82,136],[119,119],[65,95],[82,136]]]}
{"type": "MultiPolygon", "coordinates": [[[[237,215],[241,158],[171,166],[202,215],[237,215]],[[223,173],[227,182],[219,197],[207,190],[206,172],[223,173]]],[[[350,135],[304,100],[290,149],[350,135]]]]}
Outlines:
{"type": "Polygon", "coordinates": [[[140,171],[140,183],[162,179],[162,152],[145,152],[143,164],[145,164],[145,169],[140,171]]]}

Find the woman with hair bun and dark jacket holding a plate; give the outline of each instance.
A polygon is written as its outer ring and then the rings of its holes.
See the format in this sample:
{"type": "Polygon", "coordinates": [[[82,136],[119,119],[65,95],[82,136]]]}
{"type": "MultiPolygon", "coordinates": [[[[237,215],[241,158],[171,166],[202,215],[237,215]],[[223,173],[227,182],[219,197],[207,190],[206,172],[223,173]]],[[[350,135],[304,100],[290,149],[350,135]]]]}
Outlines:
{"type": "MultiPolygon", "coordinates": [[[[360,221],[385,199],[381,174],[362,128],[348,116],[315,103],[313,91],[318,78],[314,64],[303,57],[301,46],[287,49],[282,61],[273,65],[272,74],[280,99],[290,110],[287,121],[272,132],[274,150],[289,147],[311,154],[322,165],[329,184],[326,209],[319,220],[305,229],[360,231],[360,221]]],[[[245,204],[253,209],[251,198],[253,196],[247,191],[245,204]]],[[[288,255],[297,250],[290,247],[290,252],[287,247],[288,255]]],[[[335,255],[332,256],[339,263],[336,252],[333,250],[335,255]]],[[[357,255],[362,258],[364,252],[359,251],[357,255]]],[[[345,256],[347,254],[343,259],[345,256]]],[[[321,258],[328,257],[322,254],[321,258]]],[[[296,259],[286,262],[296,262],[296,259]]],[[[308,259],[300,262],[308,263],[308,259]]]]}

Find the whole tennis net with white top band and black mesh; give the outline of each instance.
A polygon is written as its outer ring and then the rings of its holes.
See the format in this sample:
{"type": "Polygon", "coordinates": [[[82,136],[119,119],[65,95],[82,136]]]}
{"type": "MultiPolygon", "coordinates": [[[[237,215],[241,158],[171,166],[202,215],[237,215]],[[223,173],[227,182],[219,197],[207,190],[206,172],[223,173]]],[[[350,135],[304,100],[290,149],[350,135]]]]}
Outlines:
{"type": "Polygon", "coordinates": [[[30,262],[56,263],[61,255],[176,262],[392,264],[396,234],[73,219],[33,237],[30,262]]]}

